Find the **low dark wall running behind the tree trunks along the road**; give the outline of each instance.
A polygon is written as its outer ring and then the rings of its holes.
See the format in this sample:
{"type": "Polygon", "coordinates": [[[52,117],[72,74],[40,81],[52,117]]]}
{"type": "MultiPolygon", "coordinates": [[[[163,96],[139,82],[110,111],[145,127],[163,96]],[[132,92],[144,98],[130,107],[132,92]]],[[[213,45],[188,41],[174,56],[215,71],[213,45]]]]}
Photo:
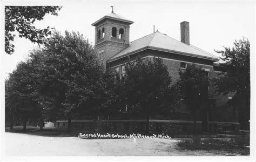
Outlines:
{"type": "MultiPolygon", "coordinates": [[[[55,127],[58,129],[67,129],[67,120],[57,120],[55,127]]],[[[119,133],[146,133],[146,120],[72,120],[71,128],[84,131],[103,131],[103,132],[119,132],[119,133]]],[[[198,132],[202,130],[200,121],[196,123],[198,132]]],[[[186,120],[149,120],[149,133],[165,133],[165,134],[186,134],[192,133],[194,130],[194,122],[186,120]]],[[[209,122],[208,132],[224,133],[228,131],[239,131],[239,123],[227,122],[209,122]]]]}

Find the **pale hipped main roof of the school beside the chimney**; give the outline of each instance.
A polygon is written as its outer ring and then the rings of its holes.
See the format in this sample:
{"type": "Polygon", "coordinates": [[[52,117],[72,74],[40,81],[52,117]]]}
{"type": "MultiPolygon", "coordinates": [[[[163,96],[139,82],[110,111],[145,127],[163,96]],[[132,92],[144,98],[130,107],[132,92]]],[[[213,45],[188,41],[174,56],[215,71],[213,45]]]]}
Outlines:
{"type": "Polygon", "coordinates": [[[210,59],[214,61],[219,60],[217,56],[212,55],[209,52],[201,50],[196,46],[182,43],[176,39],[173,39],[157,31],[145,37],[134,40],[133,42],[130,43],[130,46],[128,46],[123,51],[120,51],[119,53],[111,57],[109,60],[107,60],[107,62],[112,62],[113,60],[116,60],[128,55],[132,55],[133,53],[137,53],[139,51],[143,51],[146,49],[177,53],[179,55],[210,59]]]}

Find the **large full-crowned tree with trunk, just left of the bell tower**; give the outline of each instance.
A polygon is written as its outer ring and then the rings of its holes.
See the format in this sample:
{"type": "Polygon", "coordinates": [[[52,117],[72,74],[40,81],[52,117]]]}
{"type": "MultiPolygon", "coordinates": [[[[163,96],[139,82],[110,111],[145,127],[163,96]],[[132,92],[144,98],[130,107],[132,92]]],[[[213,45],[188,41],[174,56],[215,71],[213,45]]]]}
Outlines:
{"type": "Polygon", "coordinates": [[[68,131],[72,114],[90,110],[99,113],[110,102],[111,73],[104,72],[92,45],[83,35],[66,31],[62,36],[54,32],[44,48],[31,56],[40,60],[37,89],[41,103],[47,109],[50,107],[53,118],[68,116],[68,131]]]}

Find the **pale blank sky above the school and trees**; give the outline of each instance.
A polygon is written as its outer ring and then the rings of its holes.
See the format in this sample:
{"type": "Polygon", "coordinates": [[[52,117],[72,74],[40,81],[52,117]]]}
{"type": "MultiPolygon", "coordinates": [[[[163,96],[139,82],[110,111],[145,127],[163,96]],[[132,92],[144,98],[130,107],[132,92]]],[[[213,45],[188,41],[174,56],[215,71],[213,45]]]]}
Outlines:
{"type": "MultiPolygon", "coordinates": [[[[12,3],[4,3],[17,5],[12,3]]],[[[23,3],[23,5],[44,3],[23,3]]],[[[58,1],[63,5],[58,16],[46,15],[43,21],[36,21],[37,28],[55,27],[64,33],[83,33],[94,45],[95,27],[91,24],[111,12],[124,16],[134,23],[130,28],[130,41],[144,37],[156,30],[180,40],[180,22],[190,22],[190,43],[216,56],[214,49],[233,46],[235,39],[243,36],[254,38],[255,5],[253,1],[58,1]]],[[[3,33],[3,32],[2,32],[3,33]]],[[[36,46],[25,38],[15,37],[15,52],[2,55],[4,78],[25,60],[29,51],[36,46]]]]}

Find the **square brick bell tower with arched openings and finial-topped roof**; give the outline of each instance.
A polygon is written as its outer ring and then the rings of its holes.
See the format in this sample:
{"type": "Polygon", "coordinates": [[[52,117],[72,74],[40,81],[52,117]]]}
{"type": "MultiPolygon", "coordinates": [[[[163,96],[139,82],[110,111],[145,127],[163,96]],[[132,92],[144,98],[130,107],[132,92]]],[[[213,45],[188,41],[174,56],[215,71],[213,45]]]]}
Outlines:
{"type": "Polygon", "coordinates": [[[109,58],[129,46],[130,25],[133,23],[113,11],[92,26],[95,26],[95,51],[99,62],[104,64],[109,58]]]}

